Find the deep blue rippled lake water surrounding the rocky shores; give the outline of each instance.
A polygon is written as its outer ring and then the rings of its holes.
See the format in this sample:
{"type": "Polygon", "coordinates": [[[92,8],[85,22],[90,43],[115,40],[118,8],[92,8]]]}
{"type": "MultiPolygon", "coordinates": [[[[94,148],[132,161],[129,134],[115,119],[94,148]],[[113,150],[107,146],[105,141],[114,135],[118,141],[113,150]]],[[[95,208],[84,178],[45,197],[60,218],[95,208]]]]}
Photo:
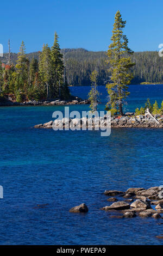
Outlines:
{"type": "MultiPolygon", "coordinates": [[[[71,90],[87,95],[86,87],[71,90]]],[[[147,97],[163,99],[163,86],[130,90],[131,111],[147,97]]],[[[51,120],[55,110],[64,106],[0,108],[0,244],[162,245],[155,236],[163,233],[163,220],[110,218],[99,208],[108,205],[106,189],[163,185],[163,130],[112,129],[109,137],[101,137],[99,131],[32,128],[51,120]],[[69,209],[80,203],[86,203],[89,212],[71,214],[69,209]]]]}

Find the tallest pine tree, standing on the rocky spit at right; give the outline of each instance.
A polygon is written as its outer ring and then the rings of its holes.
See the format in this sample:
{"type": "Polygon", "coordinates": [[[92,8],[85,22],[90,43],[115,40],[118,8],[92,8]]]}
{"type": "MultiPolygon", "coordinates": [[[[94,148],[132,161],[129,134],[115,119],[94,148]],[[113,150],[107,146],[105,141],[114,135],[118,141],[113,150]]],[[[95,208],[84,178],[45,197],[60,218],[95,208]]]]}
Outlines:
{"type": "Polygon", "coordinates": [[[133,79],[133,75],[130,74],[129,70],[134,65],[130,59],[133,51],[128,47],[127,36],[122,31],[125,25],[126,21],[122,20],[118,10],[115,15],[114,29],[111,36],[112,43],[108,49],[109,71],[111,71],[112,83],[106,84],[106,88],[109,94],[108,107],[112,108],[112,105],[114,105],[114,108],[121,115],[123,114],[123,101],[129,95],[128,85],[133,79]],[[128,56],[124,57],[124,54],[128,56]]]}

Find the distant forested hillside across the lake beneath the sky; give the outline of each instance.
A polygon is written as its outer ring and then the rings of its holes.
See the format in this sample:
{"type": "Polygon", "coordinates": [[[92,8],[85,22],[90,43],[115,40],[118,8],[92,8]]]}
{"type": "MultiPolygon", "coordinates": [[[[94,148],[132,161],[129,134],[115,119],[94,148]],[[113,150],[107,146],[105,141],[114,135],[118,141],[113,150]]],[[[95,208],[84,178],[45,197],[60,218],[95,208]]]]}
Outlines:
{"type": "MultiPolygon", "coordinates": [[[[109,64],[106,64],[106,52],[92,52],[83,48],[61,50],[65,53],[66,78],[70,85],[86,86],[91,84],[90,74],[93,70],[97,70],[97,82],[99,85],[105,85],[110,80],[108,71],[109,64]]],[[[7,63],[8,54],[5,53],[1,58],[3,63],[7,63]]],[[[28,53],[29,60],[32,58],[39,59],[39,52],[28,53]]],[[[11,53],[11,60],[16,64],[17,54],[11,53]]],[[[135,52],[131,57],[135,62],[133,69],[134,79],[132,84],[142,82],[163,83],[163,58],[159,57],[156,51],[135,52]]]]}

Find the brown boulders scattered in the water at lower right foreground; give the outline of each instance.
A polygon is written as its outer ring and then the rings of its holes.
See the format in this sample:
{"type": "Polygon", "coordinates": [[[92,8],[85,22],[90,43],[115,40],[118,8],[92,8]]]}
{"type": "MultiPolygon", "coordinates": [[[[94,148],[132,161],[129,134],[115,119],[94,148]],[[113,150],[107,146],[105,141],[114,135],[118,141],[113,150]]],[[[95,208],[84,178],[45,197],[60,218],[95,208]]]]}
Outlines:
{"type": "MultiPolygon", "coordinates": [[[[99,210],[105,210],[111,214],[110,217],[133,218],[153,217],[163,218],[163,188],[128,188],[127,191],[105,190],[106,199],[110,205],[106,205],[99,210]],[[114,203],[112,203],[114,202],[114,203]],[[116,215],[115,215],[116,214],[116,215]]],[[[70,212],[88,212],[89,209],[85,203],[74,206],[70,212]]]]}

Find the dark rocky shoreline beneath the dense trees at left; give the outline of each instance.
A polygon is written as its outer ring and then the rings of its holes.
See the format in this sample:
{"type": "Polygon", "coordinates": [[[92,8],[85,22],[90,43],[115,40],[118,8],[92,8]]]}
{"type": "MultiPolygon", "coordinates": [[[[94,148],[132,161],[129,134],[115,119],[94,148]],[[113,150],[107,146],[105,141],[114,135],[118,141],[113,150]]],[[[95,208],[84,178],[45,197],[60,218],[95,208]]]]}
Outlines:
{"type": "Polygon", "coordinates": [[[80,97],[71,96],[71,99],[62,100],[62,99],[51,99],[51,100],[44,100],[44,101],[36,101],[36,100],[29,100],[24,102],[16,102],[9,99],[3,99],[0,101],[0,106],[54,106],[54,105],[75,105],[75,104],[89,104],[89,100],[83,100],[80,97]]]}

